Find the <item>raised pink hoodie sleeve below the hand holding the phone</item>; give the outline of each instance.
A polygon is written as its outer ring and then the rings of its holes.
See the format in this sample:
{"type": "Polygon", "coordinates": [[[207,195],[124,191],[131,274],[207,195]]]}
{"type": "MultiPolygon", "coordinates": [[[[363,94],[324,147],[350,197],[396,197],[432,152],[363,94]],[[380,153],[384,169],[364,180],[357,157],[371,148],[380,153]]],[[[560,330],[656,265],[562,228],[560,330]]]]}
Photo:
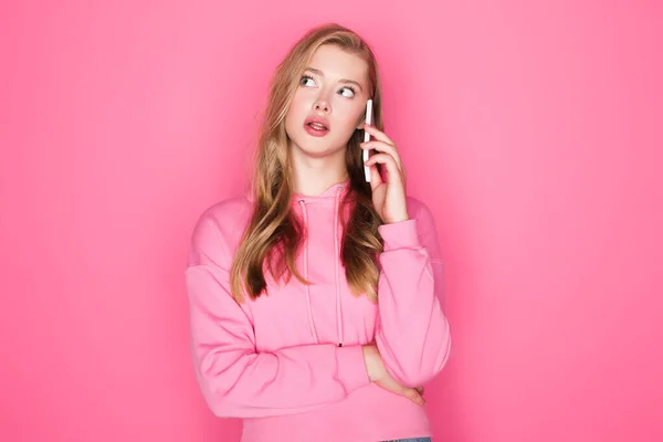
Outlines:
{"type": "Polygon", "coordinates": [[[385,249],[376,344],[389,373],[419,387],[446,364],[451,334],[441,304],[444,281],[435,222],[425,204],[410,200],[413,218],[378,228],[385,249]]]}

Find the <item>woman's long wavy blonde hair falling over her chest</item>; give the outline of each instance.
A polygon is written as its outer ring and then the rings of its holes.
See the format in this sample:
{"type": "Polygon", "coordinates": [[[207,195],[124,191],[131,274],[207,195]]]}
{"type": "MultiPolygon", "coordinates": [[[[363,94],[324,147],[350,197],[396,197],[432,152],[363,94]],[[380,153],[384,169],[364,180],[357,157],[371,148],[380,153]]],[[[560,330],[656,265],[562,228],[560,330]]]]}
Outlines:
{"type": "MultiPolygon", "coordinates": [[[[244,293],[251,299],[266,292],[265,272],[275,281],[287,283],[294,275],[311,284],[296,269],[296,256],[305,235],[304,227],[292,212],[294,192],[285,116],[299,85],[301,76],[315,51],[323,44],[335,44],[368,64],[369,91],[372,91],[373,122],[382,130],[382,91],[376,57],[369,45],[355,32],[336,23],[320,25],[298,40],[277,66],[271,82],[270,98],[257,141],[251,193],[253,215],[242,236],[230,271],[231,292],[238,303],[244,293]]],[[[378,225],[382,220],[371,200],[370,183],[364,178],[361,148],[364,131],[356,129],[347,144],[346,168],[349,191],[339,204],[339,215],[350,204],[340,259],[355,296],[366,294],[377,302],[378,255],[382,239],[378,225]]]]}

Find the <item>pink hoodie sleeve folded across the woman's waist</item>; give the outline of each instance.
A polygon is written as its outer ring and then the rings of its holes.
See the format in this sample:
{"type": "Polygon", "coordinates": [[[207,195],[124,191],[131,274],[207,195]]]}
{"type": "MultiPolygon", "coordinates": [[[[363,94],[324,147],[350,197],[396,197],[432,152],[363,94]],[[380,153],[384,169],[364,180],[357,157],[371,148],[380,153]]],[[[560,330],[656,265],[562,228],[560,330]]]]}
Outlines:
{"type": "Polygon", "coordinates": [[[307,411],[370,383],[361,346],[256,351],[251,320],[230,293],[225,243],[219,223],[201,217],[186,270],[196,379],[215,415],[307,411]]]}

